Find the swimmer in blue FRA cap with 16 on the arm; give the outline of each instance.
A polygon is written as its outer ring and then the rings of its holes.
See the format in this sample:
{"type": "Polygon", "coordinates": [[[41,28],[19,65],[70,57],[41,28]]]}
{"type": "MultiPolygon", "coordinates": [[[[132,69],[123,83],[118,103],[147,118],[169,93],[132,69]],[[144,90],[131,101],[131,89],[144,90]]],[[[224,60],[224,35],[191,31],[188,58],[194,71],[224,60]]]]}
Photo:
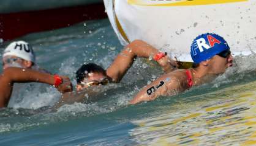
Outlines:
{"type": "Polygon", "coordinates": [[[213,80],[232,66],[230,47],[224,38],[214,33],[197,36],[190,47],[190,55],[194,68],[177,69],[162,75],[141,89],[130,104],[154,100],[159,96],[173,96],[213,80]]]}

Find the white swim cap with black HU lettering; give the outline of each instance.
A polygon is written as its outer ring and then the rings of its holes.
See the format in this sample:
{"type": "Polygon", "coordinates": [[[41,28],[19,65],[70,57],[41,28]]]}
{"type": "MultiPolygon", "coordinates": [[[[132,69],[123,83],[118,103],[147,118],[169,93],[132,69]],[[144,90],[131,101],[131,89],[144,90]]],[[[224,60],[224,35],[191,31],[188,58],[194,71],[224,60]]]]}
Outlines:
{"type": "Polygon", "coordinates": [[[10,43],[4,50],[3,57],[6,57],[7,55],[20,57],[24,60],[32,61],[33,63],[36,62],[32,47],[25,41],[14,41],[10,43]]]}

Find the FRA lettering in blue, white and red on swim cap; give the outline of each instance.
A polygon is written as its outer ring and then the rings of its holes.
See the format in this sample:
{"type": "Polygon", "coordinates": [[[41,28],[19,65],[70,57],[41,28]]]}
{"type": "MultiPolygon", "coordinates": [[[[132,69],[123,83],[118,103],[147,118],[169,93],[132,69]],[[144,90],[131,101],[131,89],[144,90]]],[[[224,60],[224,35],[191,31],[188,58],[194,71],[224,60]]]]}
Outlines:
{"type": "Polygon", "coordinates": [[[206,43],[205,38],[199,38],[198,40],[194,41],[193,55],[197,55],[196,49],[199,49],[200,52],[203,52],[203,50],[204,50],[203,47],[205,49],[209,49],[211,47],[214,47],[214,45],[216,43],[217,44],[221,43],[221,41],[217,40],[217,38],[214,38],[212,35],[207,35],[207,40],[208,40],[210,46],[206,43]]]}

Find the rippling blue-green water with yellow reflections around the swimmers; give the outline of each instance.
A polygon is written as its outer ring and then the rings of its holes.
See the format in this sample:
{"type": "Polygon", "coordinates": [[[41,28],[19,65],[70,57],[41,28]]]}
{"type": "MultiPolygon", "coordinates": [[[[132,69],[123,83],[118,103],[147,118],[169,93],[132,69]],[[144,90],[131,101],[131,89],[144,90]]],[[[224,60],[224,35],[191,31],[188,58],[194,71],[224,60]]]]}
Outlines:
{"type": "MultiPolygon", "coordinates": [[[[122,49],[107,19],[19,40],[32,44],[41,68],[73,85],[81,64],[107,68],[122,49]]],[[[9,108],[0,109],[0,145],[255,145],[255,58],[236,57],[212,83],[132,106],[138,89],[163,73],[156,63],[138,59],[121,83],[101,87],[98,102],[56,110],[45,107],[59,100],[55,88],[18,85],[9,108]]]]}

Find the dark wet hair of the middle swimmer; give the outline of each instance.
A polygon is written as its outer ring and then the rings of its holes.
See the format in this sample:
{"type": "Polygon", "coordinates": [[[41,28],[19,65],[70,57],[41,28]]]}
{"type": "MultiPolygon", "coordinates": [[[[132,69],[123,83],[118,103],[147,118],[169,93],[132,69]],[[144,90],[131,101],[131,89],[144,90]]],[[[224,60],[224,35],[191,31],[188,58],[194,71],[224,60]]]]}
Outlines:
{"type": "Polygon", "coordinates": [[[101,66],[98,66],[94,63],[88,63],[83,64],[80,69],[75,73],[75,76],[77,78],[77,84],[80,84],[84,78],[88,77],[89,73],[102,73],[104,75],[107,75],[105,69],[103,69],[101,66]]]}

